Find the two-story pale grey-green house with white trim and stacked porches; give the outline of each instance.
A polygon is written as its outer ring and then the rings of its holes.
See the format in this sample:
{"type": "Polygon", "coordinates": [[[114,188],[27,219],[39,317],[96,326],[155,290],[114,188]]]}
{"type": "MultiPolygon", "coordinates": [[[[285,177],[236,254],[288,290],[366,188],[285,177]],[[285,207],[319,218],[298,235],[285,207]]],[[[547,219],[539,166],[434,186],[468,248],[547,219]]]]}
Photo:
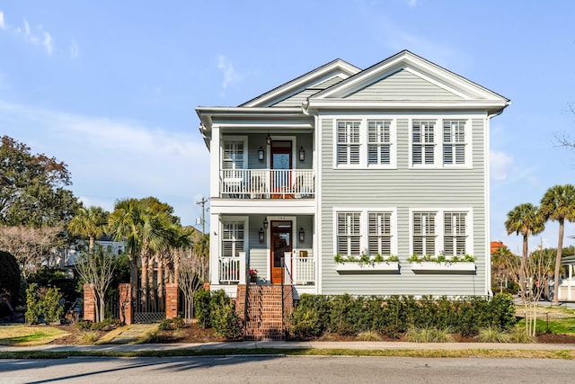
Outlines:
{"type": "Polygon", "coordinates": [[[289,284],[296,298],[490,295],[490,121],[508,105],[403,50],[196,108],[210,151],[212,289],[235,297],[257,270],[259,284],[289,284]],[[349,261],[362,255],[370,262],[349,261]]]}

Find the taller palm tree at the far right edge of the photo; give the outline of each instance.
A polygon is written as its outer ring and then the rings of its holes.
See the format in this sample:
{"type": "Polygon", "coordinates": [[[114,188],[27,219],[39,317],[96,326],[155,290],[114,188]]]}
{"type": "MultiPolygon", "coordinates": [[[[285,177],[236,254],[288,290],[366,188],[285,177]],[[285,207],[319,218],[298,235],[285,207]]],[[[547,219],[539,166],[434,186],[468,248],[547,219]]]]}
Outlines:
{"type": "Polygon", "coordinates": [[[541,214],[544,220],[559,221],[559,240],[555,258],[553,302],[559,303],[559,270],[563,249],[565,220],[575,220],[575,187],[571,184],[554,185],[545,192],[541,199],[541,214]]]}

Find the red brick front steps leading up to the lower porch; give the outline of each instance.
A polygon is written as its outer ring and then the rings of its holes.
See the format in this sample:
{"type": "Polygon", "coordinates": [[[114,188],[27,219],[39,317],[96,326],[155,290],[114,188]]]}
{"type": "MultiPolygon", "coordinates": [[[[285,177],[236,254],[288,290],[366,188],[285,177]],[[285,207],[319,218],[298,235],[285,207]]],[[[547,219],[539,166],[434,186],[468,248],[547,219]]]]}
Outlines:
{"type": "Polygon", "coordinates": [[[244,321],[244,340],[284,340],[288,318],[294,308],[294,290],[291,285],[250,284],[248,287],[247,318],[244,318],[244,284],[237,286],[235,308],[244,321]],[[283,305],[282,305],[283,302],[283,305]]]}

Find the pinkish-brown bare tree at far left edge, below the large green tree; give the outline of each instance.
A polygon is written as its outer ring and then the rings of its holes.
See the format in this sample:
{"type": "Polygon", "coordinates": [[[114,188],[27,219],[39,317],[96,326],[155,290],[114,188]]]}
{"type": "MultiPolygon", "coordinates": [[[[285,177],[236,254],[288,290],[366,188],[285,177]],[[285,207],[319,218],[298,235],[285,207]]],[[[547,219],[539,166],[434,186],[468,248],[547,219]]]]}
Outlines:
{"type": "Polygon", "coordinates": [[[59,227],[2,227],[0,249],[14,255],[21,266],[22,275],[28,278],[43,262],[49,261],[58,244],[59,227]]]}

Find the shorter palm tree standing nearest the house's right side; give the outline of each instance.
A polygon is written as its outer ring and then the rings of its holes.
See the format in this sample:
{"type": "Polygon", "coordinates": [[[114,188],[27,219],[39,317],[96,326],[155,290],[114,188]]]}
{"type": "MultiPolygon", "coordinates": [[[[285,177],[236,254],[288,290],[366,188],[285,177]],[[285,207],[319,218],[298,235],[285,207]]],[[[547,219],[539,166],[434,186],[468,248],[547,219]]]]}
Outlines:
{"type": "Polygon", "coordinates": [[[526,261],[529,252],[528,238],[543,232],[545,228],[539,209],[530,202],[517,205],[513,210],[509,210],[505,221],[508,235],[515,232],[523,236],[523,255],[521,257],[521,271],[519,271],[519,286],[525,291],[526,261]]]}

